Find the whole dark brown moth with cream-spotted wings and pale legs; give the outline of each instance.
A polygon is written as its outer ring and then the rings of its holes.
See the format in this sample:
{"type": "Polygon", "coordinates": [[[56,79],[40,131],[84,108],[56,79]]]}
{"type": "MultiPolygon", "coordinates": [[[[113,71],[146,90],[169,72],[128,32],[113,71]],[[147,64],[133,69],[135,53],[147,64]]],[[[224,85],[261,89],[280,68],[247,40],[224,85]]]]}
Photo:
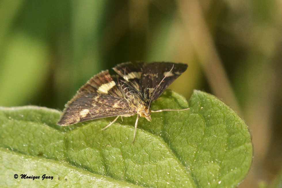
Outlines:
{"type": "MultiPolygon", "coordinates": [[[[58,125],[68,126],[78,122],[117,116],[102,130],[111,126],[119,117],[137,114],[133,142],[139,117],[151,121],[151,113],[182,111],[187,109],[150,110],[150,106],[188,65],[172,62],[125,62],[113,70],[94,75],[65,105],[58,125]]],[[[188,108],[189,109],[189,108],[188,108]]]]}

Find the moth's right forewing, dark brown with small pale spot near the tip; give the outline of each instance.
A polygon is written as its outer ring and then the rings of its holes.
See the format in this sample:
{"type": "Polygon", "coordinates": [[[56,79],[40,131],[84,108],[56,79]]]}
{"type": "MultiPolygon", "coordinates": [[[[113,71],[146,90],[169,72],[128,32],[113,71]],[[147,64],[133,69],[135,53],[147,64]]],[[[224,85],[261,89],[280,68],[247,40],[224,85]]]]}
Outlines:
{"type": "Polygon", "coordinates": [[[176,78],[186,71],[187,67],[187,64],[171,62],[144,64],[141,76],[144,96],[149,98],[150,102],[156,100],[176,78]]]}

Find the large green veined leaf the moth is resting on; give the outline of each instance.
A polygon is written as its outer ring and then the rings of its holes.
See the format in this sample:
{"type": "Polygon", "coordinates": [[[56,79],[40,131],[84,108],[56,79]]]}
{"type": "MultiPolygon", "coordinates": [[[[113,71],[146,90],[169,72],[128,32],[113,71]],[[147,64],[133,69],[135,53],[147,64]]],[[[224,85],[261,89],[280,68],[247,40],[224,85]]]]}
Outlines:
{"type": "MultiPolygon", "coordinates": [[[[152,109],[186,107],[185,98],[166,91],[152,109]]],[[[189,107],[153,113],[151,122],[141,118],[134,144],[136,116],[101,131],[113,118],[59,127],[59,111],[2,108],[1,182],[6,187],[21,183],[61,186],[67,177],[67,185],[78,187],[236,187],[252,160],[246,124],[204,92],[194,91],[189,107]],[[54,179],[44,180],[45,184],[15,180],[16,173],[46,174],[54,179]]]]}

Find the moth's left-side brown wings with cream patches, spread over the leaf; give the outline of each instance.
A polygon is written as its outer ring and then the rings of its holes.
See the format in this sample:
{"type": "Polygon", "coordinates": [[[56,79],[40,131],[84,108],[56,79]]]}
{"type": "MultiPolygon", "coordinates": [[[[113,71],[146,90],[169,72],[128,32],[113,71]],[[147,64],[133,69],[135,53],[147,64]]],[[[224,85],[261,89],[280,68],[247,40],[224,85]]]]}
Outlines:
{"type": "Polygon", "coordinates": [[[116,81],[108,71],[102,71],[87,81],[66,104],[58,124],[67,126],[91,119],[133,114],[134,110],[120,95],[116,81]]]}

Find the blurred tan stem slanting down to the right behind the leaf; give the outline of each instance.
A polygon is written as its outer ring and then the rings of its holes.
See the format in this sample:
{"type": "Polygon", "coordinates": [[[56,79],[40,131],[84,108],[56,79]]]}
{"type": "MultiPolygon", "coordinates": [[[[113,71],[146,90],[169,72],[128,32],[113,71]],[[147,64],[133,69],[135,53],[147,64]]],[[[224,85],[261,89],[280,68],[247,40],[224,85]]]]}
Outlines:
{"type": "Polygon", "coordinates": [[[197,0],[178,1],[180,16],[214,94],[242,113],[197,0]]]}

